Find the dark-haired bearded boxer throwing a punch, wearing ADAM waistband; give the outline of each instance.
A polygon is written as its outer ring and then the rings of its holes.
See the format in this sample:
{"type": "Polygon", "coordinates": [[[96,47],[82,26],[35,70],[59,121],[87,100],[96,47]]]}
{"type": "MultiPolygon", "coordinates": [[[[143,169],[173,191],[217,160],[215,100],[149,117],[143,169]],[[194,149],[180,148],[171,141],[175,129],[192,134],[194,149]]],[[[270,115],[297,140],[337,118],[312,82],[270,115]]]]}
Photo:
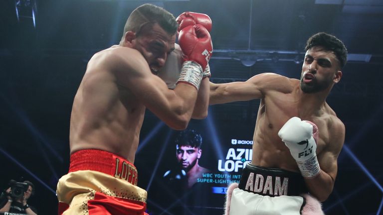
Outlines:
{"type": "Polygon", "coordinates": [[[323,214],[315,198],[323,202],[331,194],[345,138],[326,98],[342,78],[347,50],[326,33],[311,36],[305,50],[301,80],[264,73],[210,84],[210,104],[261,100],[251,164],[239,186],[229,186],[227,215],[323,214]]]}

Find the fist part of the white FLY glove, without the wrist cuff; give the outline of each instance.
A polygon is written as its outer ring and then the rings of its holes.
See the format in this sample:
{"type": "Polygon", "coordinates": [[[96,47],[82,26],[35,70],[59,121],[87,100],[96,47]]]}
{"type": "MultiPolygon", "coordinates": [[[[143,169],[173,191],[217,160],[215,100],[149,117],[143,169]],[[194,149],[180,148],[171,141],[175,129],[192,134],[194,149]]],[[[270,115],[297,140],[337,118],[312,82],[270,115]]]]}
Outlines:
{"type": "Polygon", "coordinates": [[[318,133],[318,127],[314,123],[292,117],[279,130],[278,136],[290,149],[295,160],[305,161],[316,155],[317,144],[313,136],[314,130],[318,133]]]}

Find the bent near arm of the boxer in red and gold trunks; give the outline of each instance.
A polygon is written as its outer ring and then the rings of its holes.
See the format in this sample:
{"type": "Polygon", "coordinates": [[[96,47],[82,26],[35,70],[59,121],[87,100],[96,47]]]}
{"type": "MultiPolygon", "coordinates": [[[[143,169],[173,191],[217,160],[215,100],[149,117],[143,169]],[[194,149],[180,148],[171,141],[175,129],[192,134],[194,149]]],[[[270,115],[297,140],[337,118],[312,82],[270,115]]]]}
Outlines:
{"type": "Polygon", "coordinates": [[[174,129],[185,129],[192,116],[197,90],[179,83],[174,90],[153,75],[140,52],[120,48],[107,56],[106,70],[112,70],[116,82],[129,89],[138,100],[174,129]]]}

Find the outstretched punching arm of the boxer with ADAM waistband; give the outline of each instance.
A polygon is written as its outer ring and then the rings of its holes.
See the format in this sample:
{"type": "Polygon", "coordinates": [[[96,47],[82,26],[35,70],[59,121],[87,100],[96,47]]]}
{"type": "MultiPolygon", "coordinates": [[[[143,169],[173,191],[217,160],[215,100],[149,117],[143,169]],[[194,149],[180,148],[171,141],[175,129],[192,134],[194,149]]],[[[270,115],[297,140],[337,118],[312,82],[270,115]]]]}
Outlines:
{"type": "Polygon", "coordinates": [[[262,73],[245,82],[210,83],[210,105],[261,99],[268,90],[281,90],[289,79],[274,73],[262,73]]]}

